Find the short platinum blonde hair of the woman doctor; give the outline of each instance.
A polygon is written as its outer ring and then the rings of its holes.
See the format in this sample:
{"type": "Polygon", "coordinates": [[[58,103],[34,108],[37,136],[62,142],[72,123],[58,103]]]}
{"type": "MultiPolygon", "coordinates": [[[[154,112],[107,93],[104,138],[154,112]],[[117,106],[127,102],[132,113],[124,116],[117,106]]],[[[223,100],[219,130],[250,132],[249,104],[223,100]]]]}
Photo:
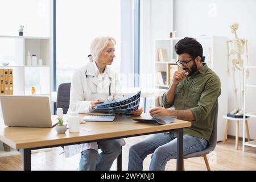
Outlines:
{"type": "Polygon", "coordinates": [[[100,36],[93,39],[90,44],[90,54],[92,55],[92,59],[94,61],[98,60],[98,56],[100,56],[103,49],[108,45],[109,41],[112,41],[114,44],[116,43],[115,39],[111,36],[100,36]]]}

